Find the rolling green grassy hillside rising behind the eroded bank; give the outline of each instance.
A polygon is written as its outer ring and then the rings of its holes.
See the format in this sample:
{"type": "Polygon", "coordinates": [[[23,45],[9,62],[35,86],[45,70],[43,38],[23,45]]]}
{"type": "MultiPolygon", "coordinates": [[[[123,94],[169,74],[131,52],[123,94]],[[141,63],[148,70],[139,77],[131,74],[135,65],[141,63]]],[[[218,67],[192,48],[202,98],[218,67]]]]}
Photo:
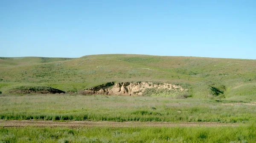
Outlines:
{"type": "Polygon", "coordinates": [[[111,81],[161,81],[188,88],[193,98],[256,100],[256,60],[125,54],[0,58],[3,94],[23,85],[77,92],[111,81]]]}

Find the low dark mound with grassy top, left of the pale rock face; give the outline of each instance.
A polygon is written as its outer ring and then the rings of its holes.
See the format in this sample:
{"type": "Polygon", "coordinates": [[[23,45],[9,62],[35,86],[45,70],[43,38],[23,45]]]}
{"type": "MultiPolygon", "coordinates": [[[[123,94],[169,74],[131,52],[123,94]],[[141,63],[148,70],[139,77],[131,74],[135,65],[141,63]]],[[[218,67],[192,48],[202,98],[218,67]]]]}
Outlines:
{"type": "Polygon", "coordinates": [[[41,94],[55,94],[55,93],[65,93],[62,90],[58,90],[48,86],[20,86],[8,90],[9,93],[14,94],[29,94],[29,93],[41,93],[41,94]]]}

